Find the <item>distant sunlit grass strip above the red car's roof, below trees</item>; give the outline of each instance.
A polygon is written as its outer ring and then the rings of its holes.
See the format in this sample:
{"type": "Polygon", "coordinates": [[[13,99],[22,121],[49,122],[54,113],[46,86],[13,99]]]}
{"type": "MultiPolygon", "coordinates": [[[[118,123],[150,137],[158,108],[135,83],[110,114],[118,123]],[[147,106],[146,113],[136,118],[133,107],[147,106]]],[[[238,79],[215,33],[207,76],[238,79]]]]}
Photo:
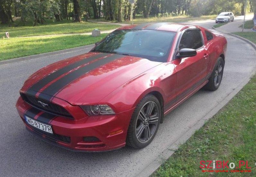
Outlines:
{"type": "MultiPolygon", "coordinates": [[[[189,17],[189,16],[169,16],[169,17],[149,17],[144,19],[142,15],[136,15],[133,19],[134,24],[149,23],[149,22],[185,22],[189,20],[201,20],[201,19],[215,19],[217,15],[205,15],[201,17],[189,17]]],[[[93,19],[91,19],[93,20],[93,19]]],[[[97,19],[97,21],[106,21],[104,18],[97,19]]],[[[117,22],[116,20],[112,22],[117,22]]],[[[132,24],[132,21],[122,21],[122,23],[132,24]]]]}

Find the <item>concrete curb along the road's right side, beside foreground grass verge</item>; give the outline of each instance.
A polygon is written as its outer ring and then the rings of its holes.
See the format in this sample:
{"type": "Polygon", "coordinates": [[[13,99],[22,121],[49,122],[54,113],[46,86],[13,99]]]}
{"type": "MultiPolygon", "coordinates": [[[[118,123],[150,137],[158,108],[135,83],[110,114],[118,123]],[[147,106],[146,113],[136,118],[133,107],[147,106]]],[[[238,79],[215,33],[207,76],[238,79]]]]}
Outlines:
{"type": "MultiPolygon", "coordinates": [[[[212,27],[212,28],[214,28],[214,27],[212,27]]],[[[249,41],[243,37],[240,37],[238,35],[234,35],[234,34],[227,34],[227,35],[237,37],[237,38],[243,40],[244,42],[249,43],[256,50],[256,45],[254,43],[252,43],[251,41],[249,41]]],[[[252,72],[252,75],[255,74],[255,70],[256,70],[256,67],[254,68],[254,72],[252,72]]],[[[175,153],[175,151],[179,148],[179,146],[181,144],[185,143],[191,137],[191,135],[193,135],[195,133],[196,130],[203,127],[204,124],[209,119],[211,119],[214,115],[216,115],[216,113],[221,111],[222,108],[230,102],[230,100],[244,87],[244,85],[246,85],[250,81],[252,75],[246,77],[244,79],[244,81],[238,87],[236,87],[230,94],[228,94],[221,102],[219,102],[216,105],[216,107],[214,107],[212,110],[210,110],[205,116],[203,116],[203,118],[198,120],[185,133],[180,135],[179,138],[175,142],[171,143],[168,148],[163,150],[163,152],[160,155],[158,155],[157,158],[155,158],[153,161],[151,161],[151,163],[148,164],[146,166],[146,168],[144,168],[142,171],[138,172],[137,175],[135,175],[135,176],[148,177],[151,174],[153,174],[154,172],[156,172],[157,169],[159,168],[159,166],[162,165],[168,158],[170,158],[172,156],[172,154],[175,153]]]]}

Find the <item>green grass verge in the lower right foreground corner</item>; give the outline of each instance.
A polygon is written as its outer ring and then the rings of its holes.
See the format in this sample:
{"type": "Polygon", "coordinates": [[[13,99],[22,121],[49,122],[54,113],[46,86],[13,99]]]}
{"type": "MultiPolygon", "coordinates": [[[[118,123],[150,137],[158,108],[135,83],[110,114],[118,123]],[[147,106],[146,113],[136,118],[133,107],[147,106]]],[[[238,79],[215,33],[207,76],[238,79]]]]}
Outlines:
{"type": "MultiPolygon", "coordinates": [[[[256,176],[255,100],[256,75],[220,112],[181,145],[152,176],[256,176]],[[239,160],[248,160],[248,166],[252,168],[247,170],[252,172],[203,173],[199,168],[201,160],[229,160],[228,165],[231,162],[235,164],[234,170],[237,170],[239,160]]],[[[245,165],[241,169],[246,170],[245,165]]]]}

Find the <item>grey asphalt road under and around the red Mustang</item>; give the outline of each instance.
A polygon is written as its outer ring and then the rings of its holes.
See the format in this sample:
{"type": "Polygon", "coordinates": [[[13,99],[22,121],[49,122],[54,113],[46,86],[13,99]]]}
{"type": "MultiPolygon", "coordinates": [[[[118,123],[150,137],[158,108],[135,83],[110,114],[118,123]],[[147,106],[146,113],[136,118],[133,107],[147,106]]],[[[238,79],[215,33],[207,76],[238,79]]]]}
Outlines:
{"type": "MultiPolygon", "coordinates": [[[[207,27],[209,23],[213,22],[197,24],[207,27]]],[[[226,38],[228,49],[219,89],[199,90],[168,114],[153,142],[141,150],[125,147],[111,152],[71,152],[37,139],[20,120],[15,102],[25,79],[43,66],[88,50],[0,65],[0,176],[136,176],[255,71],[255,50],[235,37],[226,38]]]]}

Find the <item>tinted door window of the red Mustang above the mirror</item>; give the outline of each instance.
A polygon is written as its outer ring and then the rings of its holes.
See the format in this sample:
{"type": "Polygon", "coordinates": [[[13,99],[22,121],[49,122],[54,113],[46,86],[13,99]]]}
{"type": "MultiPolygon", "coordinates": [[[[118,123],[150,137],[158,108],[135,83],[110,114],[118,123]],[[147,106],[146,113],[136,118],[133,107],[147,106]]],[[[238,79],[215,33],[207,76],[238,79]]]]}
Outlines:
{"type": "Polygon", "coordinates": [[[198,49],[203,46],[201,31],[198,29],[187,30],[181,36],[179,49],[198,49]]]}

